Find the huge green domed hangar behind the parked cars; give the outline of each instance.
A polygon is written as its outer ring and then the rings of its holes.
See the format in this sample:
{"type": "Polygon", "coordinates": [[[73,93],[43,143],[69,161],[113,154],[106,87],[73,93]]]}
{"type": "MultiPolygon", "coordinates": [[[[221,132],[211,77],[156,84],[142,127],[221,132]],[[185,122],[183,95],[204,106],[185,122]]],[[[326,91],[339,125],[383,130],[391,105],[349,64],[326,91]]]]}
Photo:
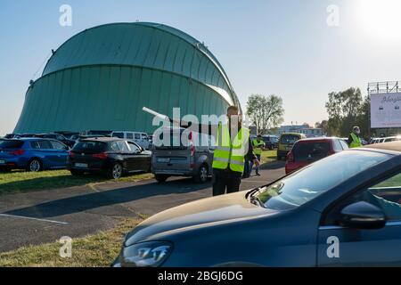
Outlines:
{"type": "Polygon", "coordinates": [[[200,41],[157,23],[113,23],[86,29],[53,53],[29,86],[14,132],[151,133],[143,107],[200,117],[225,114],[229,105],[240,103],[200,41]]]}

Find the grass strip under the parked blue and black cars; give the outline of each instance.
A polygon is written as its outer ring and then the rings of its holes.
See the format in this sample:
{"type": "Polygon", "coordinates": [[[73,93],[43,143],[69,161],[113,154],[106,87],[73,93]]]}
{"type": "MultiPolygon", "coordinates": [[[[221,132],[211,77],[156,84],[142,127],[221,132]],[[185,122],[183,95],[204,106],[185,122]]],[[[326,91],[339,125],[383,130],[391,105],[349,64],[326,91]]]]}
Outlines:
{"type": "MultiPolygon", "coordinates": [[[[119,182],[137,182],[153,177],[151,174],[126,175],[119,182]]],[[[53,190],[91,183],[116,183],[102,175],[72,176],[68,170],[43,171],[38,173],[13,171],[0,173],[0,196],[27,191],[53,190]]]]}

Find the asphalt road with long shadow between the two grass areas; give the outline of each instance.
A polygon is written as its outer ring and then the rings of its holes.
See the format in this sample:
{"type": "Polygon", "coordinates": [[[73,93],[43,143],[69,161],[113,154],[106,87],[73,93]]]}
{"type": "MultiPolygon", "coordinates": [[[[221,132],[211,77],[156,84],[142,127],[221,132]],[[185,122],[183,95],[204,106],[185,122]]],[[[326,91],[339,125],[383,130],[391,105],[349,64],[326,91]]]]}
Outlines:
{"type": "MultiPolygon", "coordinates": [[[[242,180],[241,190],[272,182],[284,175],[278,162],[261,176],[242,180]]],[[[170,178],[140,183],[101,183],[52,191],[3,196],[0,199],[0,252],[53,242],[61,237],[82,237],[113,227],[124,217],[151,216],[196,199],[211,196],[211,182],[193,183],[170,178]]]]}

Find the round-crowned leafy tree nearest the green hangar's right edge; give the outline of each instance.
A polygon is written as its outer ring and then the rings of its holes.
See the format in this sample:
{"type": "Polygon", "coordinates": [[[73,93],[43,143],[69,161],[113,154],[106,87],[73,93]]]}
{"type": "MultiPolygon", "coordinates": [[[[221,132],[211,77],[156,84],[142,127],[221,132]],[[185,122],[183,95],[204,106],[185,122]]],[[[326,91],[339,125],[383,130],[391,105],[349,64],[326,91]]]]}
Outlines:
{"type": "Polygon", "coordinates": [[[247,102],[247,115],[257,127],[258,134],[279,126],[283,122],[282,98],[276,95],[252,94],[247,102]]]}

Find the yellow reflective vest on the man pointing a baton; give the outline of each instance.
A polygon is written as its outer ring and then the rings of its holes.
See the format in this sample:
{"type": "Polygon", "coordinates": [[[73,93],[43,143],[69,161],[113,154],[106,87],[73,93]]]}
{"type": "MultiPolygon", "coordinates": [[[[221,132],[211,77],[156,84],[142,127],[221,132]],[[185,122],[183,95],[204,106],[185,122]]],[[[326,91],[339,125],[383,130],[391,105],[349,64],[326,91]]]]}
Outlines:
{"type": "Polygon", "coordinates": [[[232,142],[229,126],[218,125],[213,168],[225,170],[230,166],[234,172],[243,173],[245,156],[249,151],[249,140],[250,130],[248,128],[241,127],[232,142]]]}

